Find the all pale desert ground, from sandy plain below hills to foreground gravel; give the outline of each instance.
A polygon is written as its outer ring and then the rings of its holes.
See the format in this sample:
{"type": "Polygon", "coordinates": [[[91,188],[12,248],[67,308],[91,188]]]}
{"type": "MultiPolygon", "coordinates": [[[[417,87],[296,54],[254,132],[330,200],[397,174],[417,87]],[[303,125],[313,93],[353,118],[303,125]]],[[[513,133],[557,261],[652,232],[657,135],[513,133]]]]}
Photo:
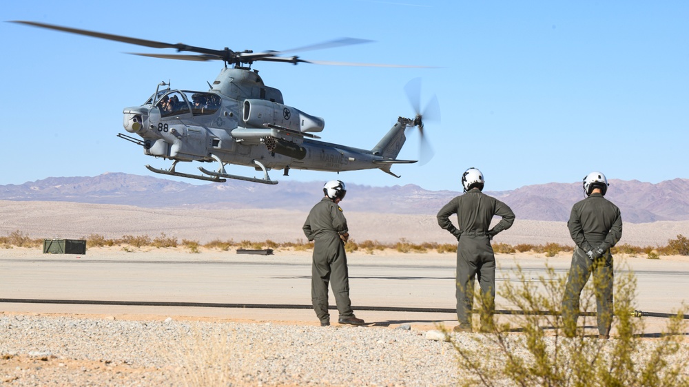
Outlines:
{"type": "MultiPolygon", "coordinates": [[[[438,227],[434,216],[376,213],[346,213],[346,216],[352,238],[359,242],[393,243],[400,239],[414,243],[455,242],[438,227]]],[[[81,239],[92,234],[119,238],[124,235],[155,237],[165,233],[200,243],[216,239],[294,242],[303,239],[301,226],[305,217],[306,213],[288,210],[143,209],[70,202],[0,201],[0,235],[19,230],[36,239],[81,239]]],[[[688,235],[688,231],[689,222],[625,224],[620,243],[661,246],[678,234],[688,235]]],[[[566,224],[529,220],[517,220],[514,227],[495,241],[571,244],[566,224]]],[[[310,251],[290,249],[278,250],[267,257],[240,257],[236,251],[203,247],[193,253],[185,247],[123,249],[117,246],[88,249],[84,256],[73,256],[43,255],[40,248],[15,247],[0,249],[3,268],[0,297],[118,300],[130,295],[142,300],[152,297],[217,300],[221,291],[232,294],[227,289],[236,282],[235,293],[242,294],[244,302],[308,304],[309,256],[310,251]],[[135,265],[116,263],[125,261],[134,261],[135,265]],[[99,264],[103,266],[91,266],[101,267],[97,272],[75,269],[99,264]],[[178,264],[186,266],[179,269],[178,264]],[[223,278],[224,272],[216,267],[232,268],[234,277],[223,278]],[[260,267],[277,271],[266,274],[267,278],[292,281],[278,299],[271,297],[263,289],[265,286],[260,286],[260,279],[252,277],[260,267]],[[196,270],[204,272],[195,275],[196,270]],[[128,280],[132,282],[125,282],[128,280]],[[254,298],[249,299],[247,295],[254,298]]],[[[651,275],[643,277],[646,280],[639,284],[644,309],[668,313],[678,306],[679,300],[686,302],[689,284],[681,278],[676,282],[677,275],[672,277],[672,273],[688,271],[689,257],[620,258],[628,260],[643,275],[651,275]],[[664,284],[668,289],[654,285],[658,282],[655,275],[668,274],[675,281],[664,284]],[[667,300],[668,294],[677,302],[664,304],[662,301],[667,300]]],[[[570,256],[564,253],[548,259],[562,271],[568,267],[570,256]]],[[[533,268],[542,266],[546,257],[533,253],[500,254],[497,260],[533,268]]],[[[371,255],[358,251],[349,255],[349,261],[351,275],[355,277],[352,289],[358,295],[353,296],[353,304],[453,306],[453,253],[403,254],[386,250],[371,255]],[[436,286],[441,280],[448,283],[436,286]],[[404,304],[408,300],[413,302],[404,304]]],[[[0,304],[0,384],[427,386],[457,384],[463,379],[451,366],[454,355],[449,343],[424,337],[426,332],[438,327],[436,322],[452,326],[452,315],[362,311],[358,316],[373,324],[356,328],[333,322],[333,326],[321,328],[310,310],[285,313],[235,309],[228,313],[227,309],[218,308],[192,311],[145,306],[3,303],[0,304]],[[400,329],[404,325],[409,326],[408,331],[400,329]],[[220,343],[229,348],[222,353],[209,350],[210,347],[194,347],[189,351],[181,344],[166,344],[184,342],[183,337],[190,331],[205,334],[218,329],[233,338],[232,342],[220,343]],[[193,355],[181,354],[184,351],[193,355]],[[333,361],[324,363],[324,355],[333,361]],[[187,370],[198,369],[195,367],[205,362],[225,362],[234,368],[223,369],[223,373],[230,375],[229,379],[194,380],[204,377],[203,373],[190,374],[187,370]]],[[[644,332],[648,337],[657,337],[665,322],[666,319],[647,318],[644,332]]]]}

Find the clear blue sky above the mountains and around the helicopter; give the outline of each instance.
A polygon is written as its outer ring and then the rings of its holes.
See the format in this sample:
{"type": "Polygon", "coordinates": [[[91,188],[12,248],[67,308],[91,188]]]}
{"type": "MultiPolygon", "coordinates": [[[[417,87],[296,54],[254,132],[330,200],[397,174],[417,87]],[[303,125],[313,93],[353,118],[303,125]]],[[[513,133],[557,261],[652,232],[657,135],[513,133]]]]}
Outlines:
{"type": "MultiPolygon", "coordinates": [[[[236,51],[348,36],[374,42],[299,55],[438,67],[254,64],[286,105],[325,118],[320,136],[333,143],[370,149],[398,116],[413,117],[404,93],[411,79],[422,77],[422,105],[433,94],[440,101],[441,121],[426,125],[435,157],[393,166],[402,178],[377,169],[273,171],[278,180],[460,190],[462,172],[477,167],[486,189],[500,191],[578,182],[593,170],[609,179],[689,178],[686,1],[25,0],[3,3],[0,14],[236,51]]],[[[143,103],[161,81],[205,91],[223,66],[129,55],[174,51],[14,23],[0,23],[0,36],[0,185],[155,175],[144,165],[169,162],[116,138],[123,108],[143,103]]],[[[400,158],[418,158],[418,136],[409,135],[400,158]]]]}

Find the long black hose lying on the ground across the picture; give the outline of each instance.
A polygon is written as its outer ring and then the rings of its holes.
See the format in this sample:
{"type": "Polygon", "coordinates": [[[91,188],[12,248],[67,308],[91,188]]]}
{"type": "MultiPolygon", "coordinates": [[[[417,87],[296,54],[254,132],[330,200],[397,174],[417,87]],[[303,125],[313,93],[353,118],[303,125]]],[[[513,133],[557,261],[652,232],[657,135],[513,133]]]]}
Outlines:
{"type": "MultiPolygon", "coordinates": [[[[214,302],[155,302],[155,301],[99,301],[99,300],[37,300],[30,298],[0,298],[0,302],[13,304],[76,304],[76,305],[121,305],[121,306],[181,306],[196,308],[238,308],[238,309],[311,309],[311,305],[294,304],[220,304],[214,302]]],[[[336,309],[336,306],[330,306],[336,309]]],[[[379,312],[407,312],[407,313],[457,313],[454,308],[409,308],[398,306],[352,306],[357,311],[379,311],[379,312]]],[[[479,311],[473,311],[479,313],[479,311]]],[[[551,311],[516,311],[498,310],[497,315],[559,315],[559,312],[551,311]]],[[[670,318],[676,316],[672,313],[655,313],[634,311],[634,317],[662,317],[670,318]]],[[[595,312],[582,312],[579,315],[595,316],[595,312]]],[[[683,315],[684,319],[689,320],[689,315],[683,315]]]]}

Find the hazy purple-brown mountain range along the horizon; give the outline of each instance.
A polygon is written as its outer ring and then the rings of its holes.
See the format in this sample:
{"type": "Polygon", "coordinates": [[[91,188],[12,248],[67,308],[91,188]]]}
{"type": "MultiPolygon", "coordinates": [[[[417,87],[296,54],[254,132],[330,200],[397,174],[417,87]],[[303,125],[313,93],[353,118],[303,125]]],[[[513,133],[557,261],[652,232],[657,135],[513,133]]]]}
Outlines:
{"type": "MultiPolygon", "coordinates": [[[[106,173],[94,177],[46,178],[0,185],[0,200],[66,201],[137,207],[204,209],[294,209],[307,211],[322,197],[322,182],[281,181],[274,186],[232,180],[192,185],[152,176],[106,173]]],[[[347,184],[347,211],[435,214],[458,191],[429,191],[417,185],[370,187],[347,184]]],[[[526,220],[566,222],[572,205],[584,198],[580,182],[530,185],[511,191],[486,191],[526,220]]],[[[607,198],[625,222],[689,220],[689,179],[657,184],[610,180],[607,198]]]]}

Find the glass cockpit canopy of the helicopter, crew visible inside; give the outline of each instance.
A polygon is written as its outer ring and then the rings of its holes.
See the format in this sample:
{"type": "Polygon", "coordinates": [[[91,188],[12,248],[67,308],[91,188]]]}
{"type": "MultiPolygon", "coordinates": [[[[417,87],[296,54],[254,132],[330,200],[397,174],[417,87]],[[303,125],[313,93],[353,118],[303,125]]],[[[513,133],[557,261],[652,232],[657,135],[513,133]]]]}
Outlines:
{"type": "Polygon", "coordinates": [[[192,112],[194,116],[214,114],[220,108],[220,96],[189,90],[161,90],[148,98],[144,105],[153,105],[161,111],[161,117],[178,116],[192,112]]]}

